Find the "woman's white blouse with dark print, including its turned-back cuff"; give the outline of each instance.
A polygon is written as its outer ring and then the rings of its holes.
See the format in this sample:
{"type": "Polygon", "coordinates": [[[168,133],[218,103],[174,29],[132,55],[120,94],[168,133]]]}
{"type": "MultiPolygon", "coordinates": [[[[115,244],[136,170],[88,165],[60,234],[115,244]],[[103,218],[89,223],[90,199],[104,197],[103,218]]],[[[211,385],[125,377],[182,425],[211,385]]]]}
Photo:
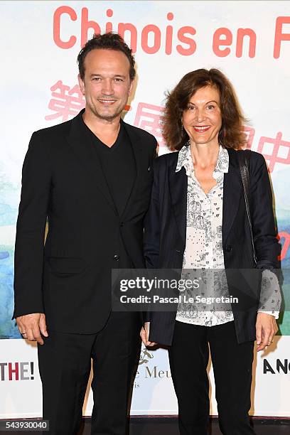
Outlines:
{"type": "MultiPolygon", "coordinates": [[[[188,176],[188,191],[186,249],[183,254],[182,279],[194,278],[194,274],[188,274],[188,269],[220,269],[218,285],[216,275],[206,272],[208,280],[206,287],[213,289],[213,279],[215,279],[215,291],[211,291],[210,296],[227,298],[229,297],[227,281],[225,272],[222,272],[225,269],[222,251],[222,198],[224,173],[227,173],[229,168],[227,149],[220,146],[218,161],[213,171],[213,178],[217,183],[208,194],[204,193],[200,183],[195,178],[190,146],[183,146],[179,151],[176,172],[180,171],[183,166],[188,176]],[[210,282],[210,280],[212,281],[210,282]]],[[[196,295],[197,293],[195,293],[196,295]]],[[[190,294],[190,296],[193,295],[190,294]]],[[[199,296],[207,295],[201,294],[199,296]]],[[[264,270],[262,272],[259,311],[267,312],[278,318],[280,305],[281,292],[276,275],[269,270],[264,270]],[[269,282],[271,282],[270,288],[269,282]],[[265,304],[270,311],[263,310],[265,304]]],[[[215,326],[233,321],[234,316],[230,304],[224,305],[220,311],[220,309],[215,308],[215,304],[200,304],[200,302],[188,304],[184,302],[178,304],[176,320],[201,326],[215,326]]]]}

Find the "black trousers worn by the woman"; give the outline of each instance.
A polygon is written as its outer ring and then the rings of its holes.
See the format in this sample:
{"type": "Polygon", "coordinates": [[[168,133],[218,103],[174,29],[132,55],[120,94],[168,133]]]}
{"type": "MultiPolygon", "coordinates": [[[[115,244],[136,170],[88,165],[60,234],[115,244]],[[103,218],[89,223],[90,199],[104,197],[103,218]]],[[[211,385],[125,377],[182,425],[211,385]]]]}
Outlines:
{"type": "Polygon", "coordinates": [[[211,327],[176,321],[169,361],[178,399],[180,433],[208,434],[208,344],[220,430],[224,435],[252,435],[248,412],[254,343],[237,343],[233,321],[211,327]]]}

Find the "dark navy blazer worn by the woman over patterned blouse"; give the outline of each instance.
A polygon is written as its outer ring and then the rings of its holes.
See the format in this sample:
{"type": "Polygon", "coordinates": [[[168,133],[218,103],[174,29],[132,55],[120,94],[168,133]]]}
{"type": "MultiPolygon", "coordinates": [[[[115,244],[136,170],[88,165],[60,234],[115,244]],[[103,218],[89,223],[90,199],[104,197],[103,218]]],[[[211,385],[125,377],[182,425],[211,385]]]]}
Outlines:
{"type": "MultiPolygon", "coordinates": [[[[235,274],[231,280],[230,270],[252,269],[254,259],[251,235],[245,209],[245,198],[240,176],[237,153],[227,150],[230,157],[229,171],[224,176],[222,209],[222,249],[230,295],[239,298],[239,308],[232,305],[235,329],[239,343],[255,340],[255,322],[260,293],[260,274],[250,278],[257,287],[253,306],[252,293],[240,291],[247,284],[247,272],[242,272],[239,285],[235,274]],[[257,285],[256,285],[257,284],[257,285]],[[247,294],[251,297],[247,298],[247,294]],[[241,309],[243,307],[243,309],[241,309]]],[[[176,172],[178,153],[166,154],[154,164],[154,185],[151,205],[146,215],[144,249],[146,265],[155,269],[181,269],[186,247],[186,200],[187,176],[185,168],[176,172]]],[[[272,190],[264,157],[254,151],[250,153],[249,178],[251,190],[251,215],[254,245],[257,253],[257,268],[278,267],[277,256],[280,245],[276,239],[272,209],[272,190]]],[[[176,312],[151,312],[149,340],[171,345],[176,312]]]]}

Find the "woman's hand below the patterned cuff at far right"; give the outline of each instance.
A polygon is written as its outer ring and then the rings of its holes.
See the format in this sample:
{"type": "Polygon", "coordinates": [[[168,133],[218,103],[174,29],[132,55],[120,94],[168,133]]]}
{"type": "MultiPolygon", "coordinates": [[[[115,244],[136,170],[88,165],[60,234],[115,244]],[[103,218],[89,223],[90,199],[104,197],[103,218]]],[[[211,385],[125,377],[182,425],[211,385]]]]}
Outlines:
{"type": "Polygon", "coordinates": [[[273,337],[277,331],[278,326],[274,316],[267,313],[257,313],[256,339],[258,352],[273,342],[273,337]]]}

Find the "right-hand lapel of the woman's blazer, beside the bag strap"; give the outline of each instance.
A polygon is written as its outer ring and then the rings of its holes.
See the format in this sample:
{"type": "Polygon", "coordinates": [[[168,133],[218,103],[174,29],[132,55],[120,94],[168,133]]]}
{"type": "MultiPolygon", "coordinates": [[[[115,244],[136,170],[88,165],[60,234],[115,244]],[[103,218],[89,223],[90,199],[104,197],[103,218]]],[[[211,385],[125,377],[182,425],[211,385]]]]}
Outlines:
{"type": "Polygon", "coordinates": [[[228,149],[229,171],[224,174],[222,205],[222,242],[225,243],[242,198],[242,181],[235,150],[228,149]]]}

